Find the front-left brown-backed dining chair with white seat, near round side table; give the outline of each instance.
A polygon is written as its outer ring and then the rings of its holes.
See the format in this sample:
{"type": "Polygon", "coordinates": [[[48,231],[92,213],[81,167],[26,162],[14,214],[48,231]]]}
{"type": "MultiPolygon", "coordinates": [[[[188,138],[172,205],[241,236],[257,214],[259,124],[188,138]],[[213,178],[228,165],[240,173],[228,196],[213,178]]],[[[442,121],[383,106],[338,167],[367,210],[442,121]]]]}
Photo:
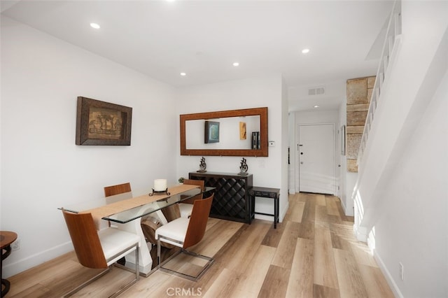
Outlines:
{"type": "Polygon", "coordinates": [[[137,234],[108,227],[97,231],[92,213],[71,213],[62,209],[67,229],[75,249],[78,261],[84,267],[105,269],[85,283],[78,285],[64,297],[69,297],[86,285],[97,280],[111,270],[111,266],[120,258],[135,251],[135,278],[120,287],[110,297],[117,297],[139,280],[139,246],[140,237],[137,234]]]}

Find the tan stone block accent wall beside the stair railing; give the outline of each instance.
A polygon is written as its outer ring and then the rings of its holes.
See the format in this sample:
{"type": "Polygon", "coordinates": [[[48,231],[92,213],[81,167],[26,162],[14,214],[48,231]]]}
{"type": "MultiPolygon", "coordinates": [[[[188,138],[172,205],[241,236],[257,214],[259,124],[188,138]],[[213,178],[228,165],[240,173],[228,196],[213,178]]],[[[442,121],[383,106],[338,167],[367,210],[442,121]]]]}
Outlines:
{"type": "Polygon", "coordinates": [[[358,172],[356,159],[374,83],[374,76],[347,80],[346,157],[349,172],[358,172]]]}

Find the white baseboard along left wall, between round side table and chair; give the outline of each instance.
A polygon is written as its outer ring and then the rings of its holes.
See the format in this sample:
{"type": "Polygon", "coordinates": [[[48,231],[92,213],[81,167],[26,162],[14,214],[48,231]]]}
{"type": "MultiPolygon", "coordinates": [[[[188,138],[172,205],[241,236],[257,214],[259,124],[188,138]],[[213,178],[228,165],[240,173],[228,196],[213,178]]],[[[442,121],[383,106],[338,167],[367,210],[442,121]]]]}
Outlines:
{"type": "Polygon", "coordinates": [[[41,253],[31,255],[29,257],[26,257],[25,259],[18,260],[17,262],[3,265],[3,272],[2,272],[3,278],[8,278],[15,274],[20,274],[20,272],[23,272],[32,267],[36,267],[37,265],[52,260],[55,257],[58,257],[59,255],[69,253],[72,250],[73,245],[71,244],[71,241],[67,241],[66,243],[63,243],[60,246],[50,248],[49,250],[44,250],[41,253]]]}

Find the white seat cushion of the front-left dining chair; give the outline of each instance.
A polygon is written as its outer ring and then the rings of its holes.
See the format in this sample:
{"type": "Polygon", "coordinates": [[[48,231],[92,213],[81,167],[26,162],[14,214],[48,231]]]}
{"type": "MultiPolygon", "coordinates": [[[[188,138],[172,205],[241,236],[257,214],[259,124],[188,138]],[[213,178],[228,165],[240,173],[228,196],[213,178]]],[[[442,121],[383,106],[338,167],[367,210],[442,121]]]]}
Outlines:
{"type": "Polygon", "coordinates": [[[111,259],[114,255],[117,255],[133,244],[139,243],[140,246],[140,237],[137,236],[137,234],[121,231],[120,229],[115,229],[112,227],[102,229],[98,232],[98,236],[103,248],[104,257],[106,258],[106,262],[108,264],[113,263],[113,260],[120,259],[123,255],[127,255],[132,250],[128,250],[125,253],[111,259]]]}

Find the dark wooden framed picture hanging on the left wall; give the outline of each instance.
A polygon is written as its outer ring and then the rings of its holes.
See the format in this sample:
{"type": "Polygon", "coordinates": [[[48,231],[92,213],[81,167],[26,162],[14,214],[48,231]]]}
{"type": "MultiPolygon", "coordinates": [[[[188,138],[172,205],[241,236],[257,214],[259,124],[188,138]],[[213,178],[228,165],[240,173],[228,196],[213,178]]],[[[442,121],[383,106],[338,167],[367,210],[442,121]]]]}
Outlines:
{"type": "Polygon", "coordinates": [[[132,108],[78,97],[76,145],[130,146],[132,108]]]}

